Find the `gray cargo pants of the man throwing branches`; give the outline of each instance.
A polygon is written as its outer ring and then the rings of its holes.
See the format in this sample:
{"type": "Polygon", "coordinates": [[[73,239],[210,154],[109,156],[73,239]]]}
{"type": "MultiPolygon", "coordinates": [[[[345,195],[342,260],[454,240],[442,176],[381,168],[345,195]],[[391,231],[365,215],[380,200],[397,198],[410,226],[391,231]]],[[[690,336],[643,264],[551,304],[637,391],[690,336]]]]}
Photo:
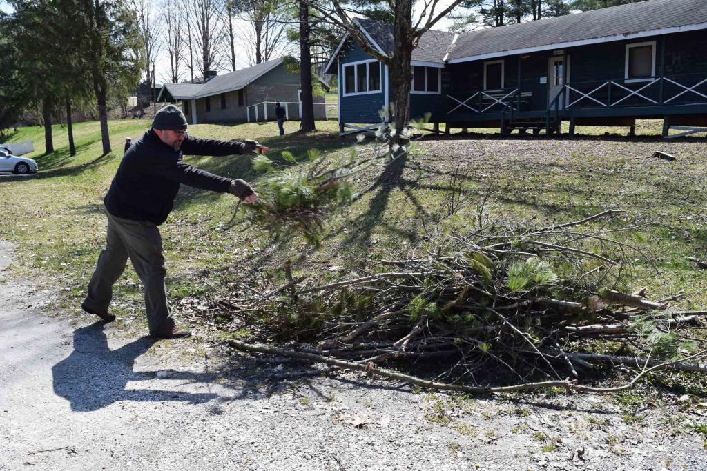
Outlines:
{"type": "Polygon", "coordinates": [[[116,217],[107,211],[107,237],[100,251],[88,294],[83,304],[89,309],[107,312],[113,285],[125,270],[128,258],[142,280],[145,310],[150,333],[168,333],[175,325],[165,290],[165,258],[162,256],[160,229],[152,222],[116,217]]]}

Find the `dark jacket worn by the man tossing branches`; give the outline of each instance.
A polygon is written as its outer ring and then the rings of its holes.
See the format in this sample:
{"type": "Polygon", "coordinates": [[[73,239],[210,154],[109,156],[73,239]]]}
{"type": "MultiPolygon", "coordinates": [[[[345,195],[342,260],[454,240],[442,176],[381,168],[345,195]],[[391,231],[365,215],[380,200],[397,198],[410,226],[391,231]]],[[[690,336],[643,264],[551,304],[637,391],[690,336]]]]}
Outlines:
{"type": "Polygon", "coordinates": [[[182,162],[182,155],[240,154],[243,141],[216,141],[188,136],[175,151],[150,130],[123,155],[103,198],[108,212],[134,221],[160,225],[173,208],[180,184],[226,193],[231,179],[182,162]]]}

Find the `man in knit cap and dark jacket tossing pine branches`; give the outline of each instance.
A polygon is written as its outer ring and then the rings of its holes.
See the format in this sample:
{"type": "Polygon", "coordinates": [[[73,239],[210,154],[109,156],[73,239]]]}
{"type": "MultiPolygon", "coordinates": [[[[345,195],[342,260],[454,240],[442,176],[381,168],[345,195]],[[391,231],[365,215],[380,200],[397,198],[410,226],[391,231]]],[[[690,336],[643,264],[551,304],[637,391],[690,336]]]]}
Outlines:
{"type": "Polygon", "coordinates": [[[180,184],[218,193],[232,193],[246,203],[257,193],[241,179],[219,177],[182,161],[182,155],[233,155],[265,153],[256,141],[216,141],[187,136],[187,119],[175,105],[160,109],[152,128],[125,153],[103,199],[108,228],[105,248],[100,252],[84,311],[105,322],[115,321],[108,306],[112,287],[122,275],[128,258],[145,290],[145,309],[150,335],[180,338],[192,335],[177,330],[167,304],[165,258],[158,226],[174,205],[180,184]]]}

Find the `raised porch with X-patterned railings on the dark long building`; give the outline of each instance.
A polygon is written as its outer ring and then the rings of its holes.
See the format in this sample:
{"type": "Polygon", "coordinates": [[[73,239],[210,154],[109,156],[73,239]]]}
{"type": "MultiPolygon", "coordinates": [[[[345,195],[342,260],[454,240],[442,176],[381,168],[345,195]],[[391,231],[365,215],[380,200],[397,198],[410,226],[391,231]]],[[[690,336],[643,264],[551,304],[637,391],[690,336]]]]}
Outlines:
{"type": "MultiPolygon", "coordinates": [[[[629,125],[635,119],[665,119],[674,124],[707,125],[707,74],[659,76],[629,81],[615,79],[566,83],[544,109],[529,109],[531,95],[521,88],[450,93],[448,126],[509,129],[540,127],[548,133],[562,121],[580,124],[629,125]]],[[[664,133],[667,131],[664,130],[664,133]]]]}

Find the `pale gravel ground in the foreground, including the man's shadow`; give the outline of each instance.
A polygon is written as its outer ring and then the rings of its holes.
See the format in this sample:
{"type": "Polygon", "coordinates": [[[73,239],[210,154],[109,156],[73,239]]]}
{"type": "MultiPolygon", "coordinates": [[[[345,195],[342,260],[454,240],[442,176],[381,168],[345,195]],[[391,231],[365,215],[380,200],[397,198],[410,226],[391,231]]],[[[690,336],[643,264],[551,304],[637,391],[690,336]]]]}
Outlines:
{"type": "Polygon", "coordinates": [[[707,470],[699,407],[271,381],[293,366],[49,312],[13,256],[0,242],[0,470],[707,470]]]}

